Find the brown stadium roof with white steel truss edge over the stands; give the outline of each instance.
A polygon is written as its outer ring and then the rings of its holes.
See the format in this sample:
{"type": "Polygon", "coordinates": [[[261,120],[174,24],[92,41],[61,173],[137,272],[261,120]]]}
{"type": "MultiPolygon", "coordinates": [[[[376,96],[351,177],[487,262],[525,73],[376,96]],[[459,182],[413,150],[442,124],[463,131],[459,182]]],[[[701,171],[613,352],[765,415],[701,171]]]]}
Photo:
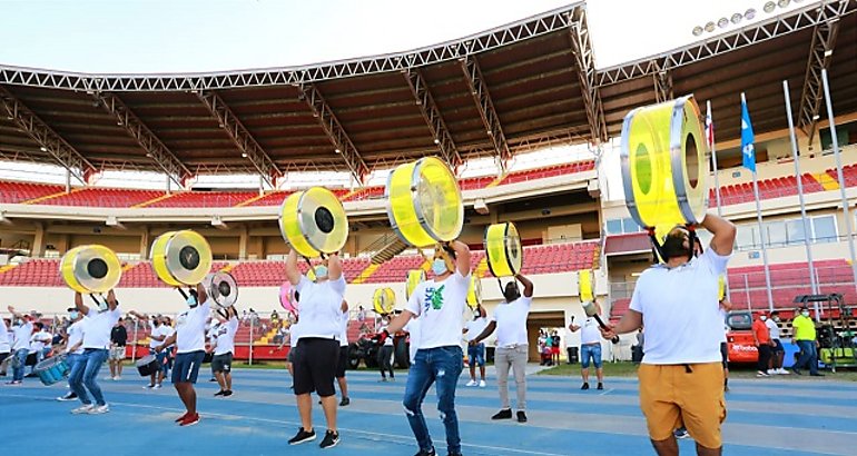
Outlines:
{"type": "Polygon", "coordinates": [[[436,46],[305,67],[83,75],[0,65],[0,158],[59,163],[81,180],[106,169],[177,182],[243,172],[274,182],[302,170],[363,178],[424,155],[460,165],[603,142],[630,109],[673,95],[711,100],[718,140],[739,135],[741,91],[757,135],[776,131],[787,126],[786,78],[796,121],[811,133],[822,68],[837,113],[857,111],[856,9],[811,4],[604,69],[583,2],[436,46]]]}

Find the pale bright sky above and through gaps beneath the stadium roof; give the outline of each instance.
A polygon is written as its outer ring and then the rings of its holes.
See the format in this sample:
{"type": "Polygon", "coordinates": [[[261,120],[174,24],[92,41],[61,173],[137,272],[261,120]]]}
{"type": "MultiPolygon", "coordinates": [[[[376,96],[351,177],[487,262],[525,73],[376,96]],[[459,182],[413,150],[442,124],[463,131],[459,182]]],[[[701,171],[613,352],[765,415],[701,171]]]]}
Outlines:
{"type": "MultiPolygon", "coordinates": [[[[792,0],[774,13],[810,2],[792,0]]],[[[742,20],[701,37],[691,32],[696,26],[717,22],[748,8],[757,10],[753,21],[769,18],[771,14],[762,11],[764,3],[589,0],[595,65],[615,66],[733,31],[749,22],[742,20]]],[[[294,67],[437,44],[567,4],[568,0],[0,0],[0,66],[86,73],[294,67]]],[[[546,165],[561,160],[563,152],[552,150],[543,156],[546,165]]],[[[490,163],[473,163],[470,171],[486,167],[490,163]]],[[[35,169],[31,165],[0,162],[0,178],[20,179],[35,169]]],[[[39,167],[38,172],[45,180],[63,179],[63,171],[55,167],[39,167]]],[[[105,176],[99,184],[164,186],[162,177],[152,179],[126,174],[105,176]]],[[[343,179],[347,184],[347,178],[343,179]]],[[[208,186],[235,187],[236,182],[253,186],[257,179],[200,179],[208,186]]]]}

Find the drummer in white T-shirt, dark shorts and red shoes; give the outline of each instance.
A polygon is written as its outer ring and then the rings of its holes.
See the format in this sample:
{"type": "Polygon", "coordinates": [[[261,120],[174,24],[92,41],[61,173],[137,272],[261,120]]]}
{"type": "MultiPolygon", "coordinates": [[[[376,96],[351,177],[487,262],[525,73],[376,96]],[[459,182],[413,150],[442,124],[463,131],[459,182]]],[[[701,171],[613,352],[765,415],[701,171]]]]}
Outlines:
{"type": "Polygon", "coordinates": [[[205,321],[211,314],[211,303],[201,284],[197,285],[196,289],[189,289],[188,293],[189,308],[176,317],[176,331],[155,347],[156,351],[160,351],[176,344],[173,386],[186,408],[186,413],[176,419],[179,426],[193,426],[199,423],[194,384],[199,375],[199,365],[205,358],[205,321]]]}

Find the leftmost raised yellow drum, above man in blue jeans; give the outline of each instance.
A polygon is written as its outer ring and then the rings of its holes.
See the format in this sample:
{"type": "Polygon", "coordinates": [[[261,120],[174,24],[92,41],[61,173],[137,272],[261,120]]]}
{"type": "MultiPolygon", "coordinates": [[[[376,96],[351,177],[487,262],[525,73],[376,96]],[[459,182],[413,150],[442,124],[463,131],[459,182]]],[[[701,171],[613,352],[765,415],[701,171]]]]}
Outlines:
{"type": "Polygon", "coordinates": [[[76,247],[62,256],[60,275],[78,293],[107,293],[122,276],[116,254],[100,245],[76,247]]]}

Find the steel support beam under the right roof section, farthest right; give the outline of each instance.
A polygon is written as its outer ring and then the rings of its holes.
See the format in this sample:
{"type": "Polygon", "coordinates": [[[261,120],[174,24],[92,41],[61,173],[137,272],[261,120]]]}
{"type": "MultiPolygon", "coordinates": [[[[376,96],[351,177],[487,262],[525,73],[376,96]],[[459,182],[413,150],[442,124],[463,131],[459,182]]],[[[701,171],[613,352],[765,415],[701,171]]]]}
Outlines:
{"type": "Polygon", "coordinates": [[[812,43],[809,47],[807,73],[804,77],[804,90],[798,108],[798,127],[811,140],[816,132],[818,110],[821,108],[824,91],[821,90],[821,70],[830,69],[834,59],[836,37],[839,34],[839,18],[834,17],[821,22],[812,30],[812,43]]]}

